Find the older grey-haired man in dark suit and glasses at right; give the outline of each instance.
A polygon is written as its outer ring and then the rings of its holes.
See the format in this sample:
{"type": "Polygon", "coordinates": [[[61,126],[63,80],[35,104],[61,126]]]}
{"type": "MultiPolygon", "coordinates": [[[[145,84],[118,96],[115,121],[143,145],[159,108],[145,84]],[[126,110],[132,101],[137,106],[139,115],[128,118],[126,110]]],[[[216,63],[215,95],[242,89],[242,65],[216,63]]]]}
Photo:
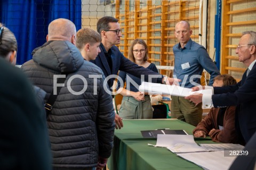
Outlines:
{"type": "MultiPolygon", "coordinates": [[[[239,40],[236,54],[248,69],[242,80],[234,86],[214,87],[213,95],[190,95],[185,99],[200,103],[203,107],[237,106],[236,128],[247,143],[256,131],[256,32],[245,31],[239,40]]],[[[204,88],[204,87],[203,87],[204,88]]],[[[194,87],[193,91],[199,90],[194,87]]]]}

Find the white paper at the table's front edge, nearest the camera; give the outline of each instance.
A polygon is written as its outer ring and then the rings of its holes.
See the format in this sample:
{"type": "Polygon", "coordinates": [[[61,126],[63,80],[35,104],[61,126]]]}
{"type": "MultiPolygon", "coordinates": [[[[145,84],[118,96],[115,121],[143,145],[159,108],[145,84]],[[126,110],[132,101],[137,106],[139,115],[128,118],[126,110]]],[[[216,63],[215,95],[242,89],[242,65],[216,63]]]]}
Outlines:
{"type": "Polygon", "coordinates": [[[225,157],[224,151],[177,153],[183,159],[209,170],[227,170],[236,157],[225,157]]]}

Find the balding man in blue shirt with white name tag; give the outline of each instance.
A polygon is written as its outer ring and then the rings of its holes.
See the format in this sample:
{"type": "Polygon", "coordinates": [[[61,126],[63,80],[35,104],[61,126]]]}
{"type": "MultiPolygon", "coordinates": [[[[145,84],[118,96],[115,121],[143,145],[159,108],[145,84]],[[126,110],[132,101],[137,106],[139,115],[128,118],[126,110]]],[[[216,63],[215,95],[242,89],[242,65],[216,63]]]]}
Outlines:
{"type": "MultiPolygon", "coordinates": [[[[189,23],[187,21],[178,22],[174,34],[179,40],[179,44],[173,46],[173,76],[183,80],[180,82],[180,86],[191,88],[201,85],[201,75],[204,69],[211,75],[209,85],[212,85],[213,78],[220,75],[220,72],[206,49],[191,40],[192,30],[190,30],[189,23]]],[[[183,97],[172,96],[171,113],[173,118],[197,126],[202,120],[202,104],[195,106],[195,103],[183,97]]]]}

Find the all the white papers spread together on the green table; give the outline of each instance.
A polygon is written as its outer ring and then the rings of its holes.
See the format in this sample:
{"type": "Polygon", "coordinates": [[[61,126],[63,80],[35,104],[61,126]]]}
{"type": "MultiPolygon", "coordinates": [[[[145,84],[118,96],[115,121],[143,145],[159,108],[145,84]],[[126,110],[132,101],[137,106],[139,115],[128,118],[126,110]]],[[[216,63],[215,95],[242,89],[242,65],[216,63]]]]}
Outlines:
{"type": "Polygon", "coordinates": [[[228,169],[236,157],[225,156],[225,149],[244,149],[243,145],[233,143],[200,144],[193,135],[157,135],[155,147],[167,147],[183,159],[204,169],[228,169]]]}

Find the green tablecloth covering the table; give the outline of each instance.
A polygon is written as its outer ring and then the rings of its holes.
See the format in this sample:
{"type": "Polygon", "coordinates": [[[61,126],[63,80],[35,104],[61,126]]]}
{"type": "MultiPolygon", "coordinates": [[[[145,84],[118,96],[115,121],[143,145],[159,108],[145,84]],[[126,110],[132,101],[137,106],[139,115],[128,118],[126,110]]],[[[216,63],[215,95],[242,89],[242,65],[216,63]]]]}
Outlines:
{"type": "MultiPolygon", "coordinates": [[[[166,148],[150,147],[156,139],[143,138],[140,131],[170,128],[193,134],[195,126],[178,119],[123,120],[124,127],[115,131],[114,148],[108,159],[109,170],[202,169],[178,157],[166,148]]],[[[196,138],[196,143],[214,143],[210,138],[196,138]]]]}

